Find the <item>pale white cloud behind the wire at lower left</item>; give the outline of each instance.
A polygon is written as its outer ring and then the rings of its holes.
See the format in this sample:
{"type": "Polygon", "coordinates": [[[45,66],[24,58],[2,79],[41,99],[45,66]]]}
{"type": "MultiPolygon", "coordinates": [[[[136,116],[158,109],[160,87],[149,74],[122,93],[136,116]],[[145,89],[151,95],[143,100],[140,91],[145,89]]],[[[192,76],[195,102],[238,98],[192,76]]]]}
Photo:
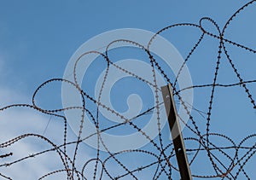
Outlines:
{"type": "MultiPolygon", "coordinates": [[[[20,96],[15,90],[1,89],[0,87],[0,99],[1,102],[7,102],[4,103],[7,105],[8,103],[14,103],[16,100],[21,102],[21,100],[27,98],[20,96]]],[[[1,103],[0,107],[3,107],[3,103],[1,103]]],[[[51,118],[49,121],[49,115],[38,113],[26,107],[15,107],[0,111],[0,143],[26,133],[42,135],[48,122],[49,126],[44,136],[48,137],[56,144],[61,144],[63,142],[63,123],[61,123],[60,119],[51,118]]],[[[69,132],[69,136],[70,135],[72,135],[71,132],[69,132]]],[[[12,156],[0,159],[0,165],[19,160],[27,155],[36,154],[49,148],[53,147],[49,145],[49,143],[42,141],[42,139],[27,137],[19,142],[15,142],[9,147],[0,148],[0,155],[9,154],[10,152],[13,153],[12,156]]],[[[73,148],[70,148],[70,153],[73,154],[73,148]]],[[[73,157],[73,155],[70,156],[73,157]]],[[[85,159],[89,158],[86,154],[83,157],[85,159]]],[[[0,167],[0,173],[13,179],[29,180],[38,179],[49,171],[62,168],[63,165],[59,155],[55,152],[49,152],[35,158],[23,160],[8,167],[2,166],[0,167]]],[[[50,177],[50,179],[65,179],[65,177],[66,174],[63,172],[50,177]]],[[[2,177],[0,177],[0,179],[2,179],[2,177]]]]}

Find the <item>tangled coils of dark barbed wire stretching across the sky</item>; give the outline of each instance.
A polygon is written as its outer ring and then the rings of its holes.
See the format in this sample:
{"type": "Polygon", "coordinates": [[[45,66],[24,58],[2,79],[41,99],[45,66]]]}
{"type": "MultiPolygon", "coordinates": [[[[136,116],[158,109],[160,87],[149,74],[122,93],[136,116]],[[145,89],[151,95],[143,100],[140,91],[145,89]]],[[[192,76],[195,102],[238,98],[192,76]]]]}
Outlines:
{"type": "MultiPolygon", "coordinates": [[[[256,142],[253,142],[253,138],[256,137],[256,134],[250,134],[245,136],[241,142],[236,142],[229,136],[225,134],[221,134],[218,132],[211,131],[212,125],[212,105],[215,100],[217,94],[218,87],[240,87],[244,90],[247,95],[247,101],[250,102],[251,108],[256,109],[256,104],[253,98],[252,90],[250,89],[249,84],[253,84],[256,82],[256,79],[253,80],[245,80],[242,78],[241,72],[236,67],[235,62],[233,61],[230,53],[228,51],[227,44],[231,46],[235,46],[239,49],[244,49],[245,52],[251,53],[255,55],[256,50],[251,49],[243,44],[238,44],[228,38],[225,38],[225,32],[227,28],[230,26],[232,20],[236,19],[238,15],[241,14],[242,11],[245,11],[247,7],[252,6],[256,1],[253,0],[249,3],[246,3],[240,9],[236,11],[234,15],[231,15],[230,19],[226,21],[224,27],[221,29],[218,24],[209,17],[201,18],[199,24],[193,23],[181,23],[174,24],[172,26],[166,26],[161,29],[159,32],[156,32],[154,37],[150,39],[148,42],[148,46],[144,47],[142,44],[138,44],[137,42],[131,41],[130,39],[117,39],[113,41],[111,44],[108,44],[104,53],[99,51],[89,51],[84,52],[83,55],[79,57],[79,59],[75,62],[73,67],[73,81],[64,79],[64,78],[52,78],[39,85],[32,95],[32,104],[13,104],[7,107],[1,107],[0,112],[3,113],[7,111],[9,108],[17,108],[24,107],[29,108],[39,113],[43,113],[49,117],[55,117],[56,119],[61,119],[61,125],[63,125],[63,140],[61,143],[56,143],[54,140],[49,139],[43,134],[35,134],[35,133],[25,133],[20,136],[15,136],[9,141],[3,142],[1,140],[0,144],[0,152],[2,153],[5,148],[9,148],[10,152],[6,154],[0,155],[0,176],[5,179],[12,179],[8,175],[6,175],[5,171],[7,169],[11,169],[14,165],[22,163],[24,161],[29,163],[29,160],[38,159],[39,156],[43,154],[55,153],[58,155],[61,165],[60,169],[49,171],[45,173],[38,179],[44,179],[47,177],[53,177],[58,174],[64,174],[67,179],[178,179],[178,168],[175,159],[175,152],[173,148],[173,144],[170,141],[164,141],[162,131],[160,128],[160,107],[163,106],[163,102],[160,102],[160,87],[157,84],[156,71],[160,72],[163,78],[166,80],[166,84],[171,84],[173,90],[173,96],[177,99],[178,105],[183,107],[186,113],[189,116],[188,123],[181,123],[185,125],[186,131],[189,131],[189,136],[185,136],[184,142],[186,145],[186,151],[189,155],[189,165],[191,167],[192,177],[197,178],[219,178],[219,179],[252,179],[251,175],[253,170],[249,171],[250,168],[247,167],[247,164],[250,160],[253,159],[253,155],[256,153],[256,142]],[[202,25],[204,22],[210,22],[213,26],[215,26],[218,34],[214,34],[209,32],[202,25]],[[154,38],[160,35],[162,32],[167,32],[173,28],[181,28],[187,26],[189,28],[195,28],[196,30],[201,32],[200,38],[197,40],[196,44],[192,49],[190,49],[189,54],[183,61],[183,65],[179,68],[177,76],[175,80],[172,81],[171,78],[167,75],[164,69],[160,66],[160,63],[156,60],[154,55],[150,51],[150,47],[154,44],[154,38]],[[179,75],[183,72],[184,66],[188,63],[191,57],[194,55],[195,51],[199,49],[201,42],[204,38],[210,37],[218,40],[218,55],[216,58],[215,64],[215,72],[213,74],[212,82],[209,84],[197,84],[191,87],[186,87],[184,89],[178,89],[177,80],[179,75]],[[138,76],[136,73],[132,73],[125,69],[124,67],[120,67],[108,55],[108,49],[111,45],[117,44],[119,42],[125,44],[132,44],[136,46],[138,49],[143,50],[143,52],[148,55],[148,63],[152,67],[152,77],[153,82],[149,82],[147,79],[144,79],[138,76]],[[79,67],[79,61],[85,55],[97,54],[104,59],[106,62],[106,71],[104,73],[104,78],[101,84],[101,89],[99,90],[98,98],[94,98],[89,95],[83,88],[79,85],[79,80],[77,78],[77,69],[79,67]],[[236,74],[237,83],[234,84],[219,84],[218,83],[218,73],[220,69],[220,63],[223,59],[223,56],[228,60],[230,67],[233,69],[233,72],[236,74]],[[125,74],[129,74],[131,77],[136,78],[138,81],[143,82],[143,84],[148,84],[149,86],[154,88],[154,98],[155,105],[154,107],[148,108],[146,111],[141,112],[136,115],[132,119],[127,119],[125,116],[121,115],[114,109],[106,106],[102,103],[102,92],[105,88],[105,83],[108,79],[108,70],[110,67],[116,68],[116,71],[121,71],[125,74]],[[35,101],[36,96],[38,96],[38,92],[42,90],[45,86],[61,82],[64,84],[68,84],[72,86],[74,89],[79,92],[81,96],[81,106],[75,107],[64,107],[60,109],[44,109],[43,107],[38,106],[35,101]],[[203,88],[210,88],[211,93],[209,96],[209,102],[207,104],[207,112],[206,114],[206,129],[201,128],[201,122],[197,120],[197,116],[194,113],[190,113],[189,105],[183,101],[183,97],[180,95],[181,92],[189,89],[197,90],[203,88]],[[87,106],[87,102],[90,102],[96,106],[96,111],[90,109],[87,106]],[[113,113],[115,117],[121,120],[121,123],[117,123],[115,125],[102,125],[100,115],[100,108],[104,108],[108,111],[108,113],[113,113]],[[67,117],[64,112],[72,111],[77,109],[81,112],[81,119],[79,119],[79,133],[75,140],[69,141],[67,137],[67,117]],[[140,124],[138,124],[137,119],[142,117],[145,114],[148,114],[152,111],[157,113],[157,118],[155,119],[156,125],[158,126],[158,136],[152,139],[148,134],[143,131],[140,124]],[[84,131],[84,126],[86,126],[86,122],[84,121],[84,116],[87,115],[90,117],[91,122],[95,125],[96,133],[90,134],[90,136],[82,136],[82,132],[84,131]],[[137,149],[125,149],[120,152],[113,153],[109,150],[108,145],[105,140],[102,138],[102,132],[106,131],[114,131],[115,129],[122,127],[131,128],[134,131],[139,132],[142,136],[144,136],[148,140],[148,145],[144,148],[137,149]],[[190,136],[191,135],[191,136],[190,136]],[[90,139],[92,136],[96,136],[96,144],[97,148],[95,150],[95,156],[90,158],[83,159],[83,165],[80,165],[78,161],[81,159],[79,149],[81,146],[84,146],[84,141],[90,139]],[[11,147],[15,146],[16,143],[20,141],[24,141],[28,138],[38,139],[39,142],[46,142],[49,144],[50,148],[47,148],[43,151],[38,151],[35,154],[28,154],[24,157],[21,157],[18,160],[9,161],[9,158],[14,155],[11,152],[11,147]],[[224,142],[222,145],[218,145],[215,143],[212,138],[219,138],[221,142],[224,142]],[[246,145],[247,142],[251,141],[250,145],[246,145]],[[230,144],[230,145],[228,145],[230,144]],[[104,148],[106,152],[102,152],[100,150],[100,146],[104,148]],[[71,150],[70,147],[73,147],[71,150]],[[191,148],[195,147],[195,148],[191,148]],[[2,150],[1,150],[2,149],[2,150]],[[134,155],[135,154],[135,155],[134,155]],[[204,154],[205,156],[203,156],[204,154]],[[134,155],[135,159],[137,159],[136,164],[129,160],[129,157],[134,155]],[[128,159],[127,159],[128,158],[128,159]],[[200,163],[199,161],[203,161],[200,163]],[[204,165],[200,167],[200,165],[204,165]],[[207,166],[208,165],[208,166],[207,166]],[[201,172],[198,172],[196,169],[202,169],[201,172]],[[212,169],[210,171],[210,169],[212,169]],[[150,173],[151,174],[150,174],[150,173]],[[148,173],[151,177],[147,177],[148,173]]],[[[205,97],[204,97],[205,98],[205,97]]],[[[192,107],[195,112],[201,114],[202,112],[192,107]]],[[[1,121],[7,119],[1,119],[1,121]]],[[[21,119],[22,120],[22,119],[21,119]]],[[[186,135],[186,133],[184,133],[186,135]]],[[[37,141],[37,143],[38,143],[37,141]]],[[[85,152],[86,153],[86,152],[85,152]]],[[[255,176],[254,176],[255,177],[255,176]]]]}

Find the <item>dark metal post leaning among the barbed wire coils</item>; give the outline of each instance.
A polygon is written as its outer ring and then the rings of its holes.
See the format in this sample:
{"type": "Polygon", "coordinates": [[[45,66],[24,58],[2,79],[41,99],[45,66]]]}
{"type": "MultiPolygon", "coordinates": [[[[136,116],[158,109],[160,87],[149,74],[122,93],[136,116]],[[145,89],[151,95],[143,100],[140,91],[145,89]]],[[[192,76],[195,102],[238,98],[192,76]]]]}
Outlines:
{"type": "Polygon", "coordinates": [[[171,85],[161,87],[162,96],[166,106],[166,114],[169,127],[172,134],[172,142],[177,158],[177,165],[182,180],[192,180],[189,162],[186,154],[186,148],[183,142],[183,135],[180,130],[179,120],[177,119],[177,110],[172,96],[171,85]]]}

